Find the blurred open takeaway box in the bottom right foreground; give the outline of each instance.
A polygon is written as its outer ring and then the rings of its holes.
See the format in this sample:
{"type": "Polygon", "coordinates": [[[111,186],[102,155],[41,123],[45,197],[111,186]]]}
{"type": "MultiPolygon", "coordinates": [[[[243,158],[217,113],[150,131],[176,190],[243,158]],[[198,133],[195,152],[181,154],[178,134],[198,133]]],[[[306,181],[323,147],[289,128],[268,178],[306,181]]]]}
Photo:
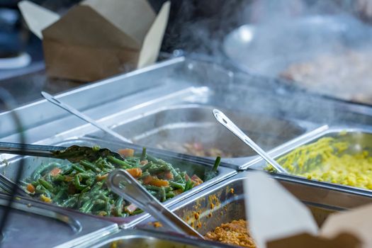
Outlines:
{"type": "Polygon", "coordinates": [[[332,214],[319,228],[310,210],[264,172],[247,173],[244,192],[257,247],[372,247],[372,205],[332,214]]]}

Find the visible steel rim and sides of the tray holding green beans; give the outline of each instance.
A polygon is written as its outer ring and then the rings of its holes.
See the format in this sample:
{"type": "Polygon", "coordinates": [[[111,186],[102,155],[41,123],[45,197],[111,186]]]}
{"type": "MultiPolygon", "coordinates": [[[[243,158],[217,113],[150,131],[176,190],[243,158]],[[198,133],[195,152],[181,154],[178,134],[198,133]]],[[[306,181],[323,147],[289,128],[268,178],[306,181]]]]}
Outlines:
{"type": "MultiPolygon", "coordinates": [[[[109,148],[110,150],[117,151],[118,149],[122,148],[133,148],[137,152],[141,152],[142,147],[138,147],[136,145],[129,145],[129,144],[123,144],[118,142],[110,142],[110,141],[104,141],[104,140],[96,140],[92,138],[81,138],[81,139],[70,139],[66,140],[64,142],[60,142],[56,144],[58,146],[64,146],[69,147],[71,145],[81,145],[81,146],[94,146],[94,145],[100,145],[101,147],[109,148]]],[[[147,149],[147,152],[149,154],[152,154],[154,157],[159,157],[164,159],[166,162],[169,162],[174,165],[174,167],[178,167],[181,169],[181,171],[187,171],[188,174],[197,174],[198,176],[201,176],[203,179],[204,171],[207,169],[212,168],[213,162],[208,159],[195,159],[191,156],[187,156],[185,154],[171,154],[169,152],[165,151],[157,151],[152,149],[147,149]]],[[[52,158],[45,158],[45,157],[13,157],[13,159],[9,159],[8,165],[0,167],[0,173],[1,180],[6,180],[12,183],[12,179],[16,176],[16,171],[18,169],[18,166],[21,162],[21,159],[25,160],[25,170],[23,174],[23,178],[28,178],[36,167],[38,167],[40,164],[47,164],[52,161],[59,161],[60,163],[67,162],[67,160],[62,159],[52,159],[52,158]]],[[[221,163],[220,167],[218,167],[218,176],[216,176],[213,179],[210,179],[208,181],[205,181],[203,184],[196,186],[195,188],[191,189],[190,191],[186,191],[185,193],[181,193],[180,195],[171,198],[170,200],[166,201],[164,205],[171,206],[175,203],[184,200],[185,198],[188,198],[192,196],[195,193],[198,193],[199,191],[202,191],[205,188],[208,188],[210,186],[213,186],[214,184],[218,183],[219,181],[223,181],[224,179],[227,179],[233,175],[237,174],[237,171],[235,169],[230,169],[226,166],[225,163],[221,163]]],[[[73,212],[79,213],[77,210],[71,210],[73,212]]],[[[115,218],[115,217],[98,217],[95,215],[95,218],[102,219],[102,220],[110,220],[112,222],[118,223],[123,228],[132,227],[137,222],[140,222],[140,220],[144,218],[148,218],[148,214],[140,214],[140,215],[133,215],[128,218],[115,218]]]]}

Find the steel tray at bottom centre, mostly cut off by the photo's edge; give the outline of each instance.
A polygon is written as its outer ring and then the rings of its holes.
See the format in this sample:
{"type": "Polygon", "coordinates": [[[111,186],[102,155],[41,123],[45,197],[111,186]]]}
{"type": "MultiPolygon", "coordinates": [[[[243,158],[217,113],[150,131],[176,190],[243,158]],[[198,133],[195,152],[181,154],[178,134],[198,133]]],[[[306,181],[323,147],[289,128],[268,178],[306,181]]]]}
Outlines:
{"type": "Polygon", "coordinates": [[[195,239],[176,233],[155,232],[153,230],[123,230],[115,235],[103,238],[95,244],[87,244],[91,248],[111,248],[113,243],[118,248],[194,248],[194,247],[230,247],[207,240],[195,239]]]}

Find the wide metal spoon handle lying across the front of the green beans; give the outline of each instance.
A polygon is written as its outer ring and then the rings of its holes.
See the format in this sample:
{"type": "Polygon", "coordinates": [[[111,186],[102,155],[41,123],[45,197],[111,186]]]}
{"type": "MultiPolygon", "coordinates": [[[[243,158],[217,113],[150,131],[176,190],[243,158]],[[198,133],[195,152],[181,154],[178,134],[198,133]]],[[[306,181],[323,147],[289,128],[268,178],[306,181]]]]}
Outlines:
{"type": "Polygon", "coordinates": [[[111,171],[108,174],[107,184],[111,191],[135,204],[145,212],[150,213],[163,225],[169,227],[170,230],[204,239],[200,233],[196,232],[184,220],[181,220],[181,218],[157,201],[157,198],[148,193],[127,171],[123,169],[111,171]]]}

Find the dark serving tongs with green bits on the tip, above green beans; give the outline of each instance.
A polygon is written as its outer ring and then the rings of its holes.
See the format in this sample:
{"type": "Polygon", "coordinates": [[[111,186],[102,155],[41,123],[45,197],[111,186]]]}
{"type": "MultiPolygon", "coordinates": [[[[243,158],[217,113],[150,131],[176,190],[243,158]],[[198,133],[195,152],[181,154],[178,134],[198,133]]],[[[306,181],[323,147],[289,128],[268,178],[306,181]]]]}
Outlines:
{"type": "Polygon", "coordinates": [[[11,142],[0,142],[0,153],[18,154],[36,157],[54,157],[56,159],[67,159],[69,162],[79,162],[81,159],[94,160],[98,157],[111,155],[122,159],[120,154],[112,152],[107,148],[100,147],[56,147],[52,145],[30,145],[11,142]]]}

